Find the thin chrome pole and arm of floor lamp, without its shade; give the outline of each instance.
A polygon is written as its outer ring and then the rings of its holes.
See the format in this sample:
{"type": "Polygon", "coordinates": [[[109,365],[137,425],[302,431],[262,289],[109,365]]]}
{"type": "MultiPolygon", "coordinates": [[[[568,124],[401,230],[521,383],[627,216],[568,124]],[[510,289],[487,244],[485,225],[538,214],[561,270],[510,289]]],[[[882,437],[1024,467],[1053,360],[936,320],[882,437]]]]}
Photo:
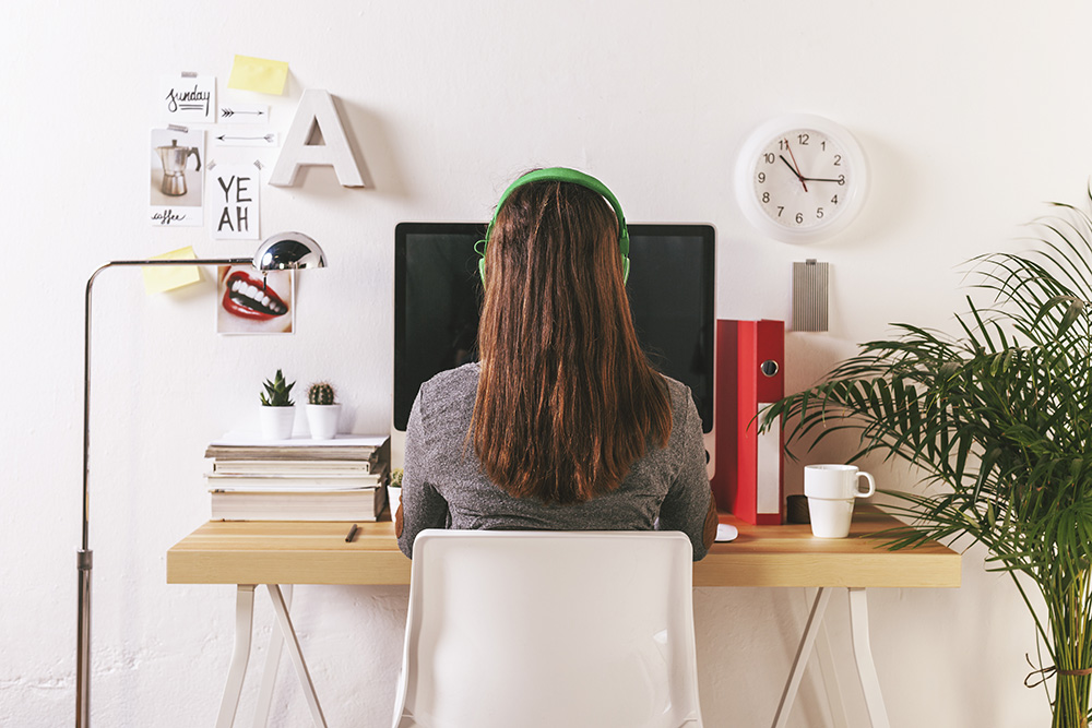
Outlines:
{"type": "Polygon", "coordinates": [[[76,728],[91,726],[91,570],[92,552],[88,548],[88,474],[91,453],[91,293],[98,274],[114,266],[154,265],[253,265],[250,258],[200,258],[163,259],[143,261],[110,261],[100,265],[87,278],[83,308],[83,538],[76,551],[78,618],[76,618],[76,663],[75,663],[75,725],[76,728]]]}

